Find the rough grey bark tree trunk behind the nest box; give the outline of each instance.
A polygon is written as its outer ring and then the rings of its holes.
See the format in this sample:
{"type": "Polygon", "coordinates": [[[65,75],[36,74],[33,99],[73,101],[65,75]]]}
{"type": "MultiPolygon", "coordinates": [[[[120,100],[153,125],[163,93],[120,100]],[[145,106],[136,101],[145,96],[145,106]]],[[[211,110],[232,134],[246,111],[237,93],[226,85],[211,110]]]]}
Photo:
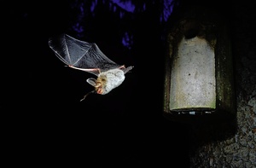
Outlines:
{"type": "Polygon", "coordinates": [[[236,74],[236,120],[192,125],[190,167],[256,167],[256,12],[230,5],[236,74]]]}

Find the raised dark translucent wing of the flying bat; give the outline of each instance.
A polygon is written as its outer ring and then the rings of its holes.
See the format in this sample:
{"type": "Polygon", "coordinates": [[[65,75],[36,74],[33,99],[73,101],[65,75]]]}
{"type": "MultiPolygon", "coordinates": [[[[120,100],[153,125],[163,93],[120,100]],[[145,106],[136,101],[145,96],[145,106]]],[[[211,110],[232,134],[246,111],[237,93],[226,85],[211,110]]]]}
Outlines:
{"type": "Polygon", "coordinates": [[[99,74],[98,69],[105,72],[120,67],[119,64],[104,55],[96,43],[84,42],[67,34],[49,38],[49,48],[67,66],[77,67],[79,70],[95,75],[99,74]]]}

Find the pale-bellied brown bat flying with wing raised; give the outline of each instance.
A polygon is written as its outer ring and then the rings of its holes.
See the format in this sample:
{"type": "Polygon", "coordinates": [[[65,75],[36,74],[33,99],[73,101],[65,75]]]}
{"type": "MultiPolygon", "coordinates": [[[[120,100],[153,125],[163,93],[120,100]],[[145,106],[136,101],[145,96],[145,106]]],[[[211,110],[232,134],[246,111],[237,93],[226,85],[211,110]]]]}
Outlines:
{"type": "Polygon", "coordinates": [[[59,37],[49,38],[49,48],[66,66],[96,75],[97,78],[86,80],[94,90],[87,93],[84,98],[90,93],[108,94],[124,82],[125,73],[132,69],[132,66],[125,67],[110,60],[96,43],[84,42],[65,33],[59,37]]]}

